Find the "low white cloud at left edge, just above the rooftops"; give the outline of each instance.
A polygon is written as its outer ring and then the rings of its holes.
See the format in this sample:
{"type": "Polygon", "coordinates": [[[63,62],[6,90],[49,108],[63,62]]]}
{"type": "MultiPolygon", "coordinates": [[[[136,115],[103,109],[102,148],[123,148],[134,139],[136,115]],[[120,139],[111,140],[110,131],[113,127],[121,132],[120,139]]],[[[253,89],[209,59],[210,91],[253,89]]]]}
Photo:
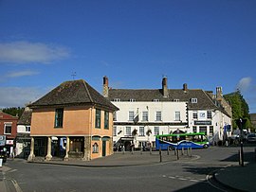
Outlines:
{"type": "Polygon", "coordinates": [[[30,101],[44,96],[47,91],[39,87],[1,87],[0,108],[24,107],[30,101]]]}

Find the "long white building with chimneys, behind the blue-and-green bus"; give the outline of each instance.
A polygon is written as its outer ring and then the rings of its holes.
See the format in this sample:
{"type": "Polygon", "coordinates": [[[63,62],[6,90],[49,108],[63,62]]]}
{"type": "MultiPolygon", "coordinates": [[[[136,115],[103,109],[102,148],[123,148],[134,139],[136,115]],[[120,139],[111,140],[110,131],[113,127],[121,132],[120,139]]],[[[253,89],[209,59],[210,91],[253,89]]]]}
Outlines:
{"type": "MultiPolygon", "coordinates": [[[[226,104],[217,89],[218,99],[226,104]]],[[[212,92],[201,89],[168,89],[167,78],[161,89],[109,89],[103,78],[103,96],[119,107],[114,115],[114,143],[155,147],[155,134],[204,131],[215,142],[231,130],[231,116],[212,92]]]]}

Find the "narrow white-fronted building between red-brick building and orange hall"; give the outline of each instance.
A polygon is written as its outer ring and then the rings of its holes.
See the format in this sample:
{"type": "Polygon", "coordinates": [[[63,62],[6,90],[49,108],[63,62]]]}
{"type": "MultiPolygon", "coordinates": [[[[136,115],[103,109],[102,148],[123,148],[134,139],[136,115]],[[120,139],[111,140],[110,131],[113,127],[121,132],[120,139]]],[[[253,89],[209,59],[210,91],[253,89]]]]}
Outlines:
{"type": "Polygon", "coordinates": [[[27,158],[30,151],[30,125],[31,125],[32,110],[28,107],[20,116],[17,123],[17,136],[15,138],[16,156],[27,158]]]}

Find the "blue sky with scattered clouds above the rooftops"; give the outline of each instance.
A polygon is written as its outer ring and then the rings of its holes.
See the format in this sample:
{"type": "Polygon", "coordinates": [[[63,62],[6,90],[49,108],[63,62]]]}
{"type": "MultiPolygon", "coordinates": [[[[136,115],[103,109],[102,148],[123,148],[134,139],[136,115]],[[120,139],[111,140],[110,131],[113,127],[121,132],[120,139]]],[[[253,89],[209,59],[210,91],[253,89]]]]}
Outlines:
{"type": "Polygon", "coordinates": [[[229,94],[256,113],[255,0],[0,0],[0,108],[65,80],[229,94]]]}

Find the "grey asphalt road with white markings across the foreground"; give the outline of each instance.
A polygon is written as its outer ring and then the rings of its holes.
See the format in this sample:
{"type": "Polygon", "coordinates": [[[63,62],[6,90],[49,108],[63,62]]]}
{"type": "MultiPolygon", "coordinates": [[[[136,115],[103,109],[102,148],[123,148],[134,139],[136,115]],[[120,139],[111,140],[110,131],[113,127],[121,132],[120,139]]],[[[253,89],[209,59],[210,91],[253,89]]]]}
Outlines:
{"type": "MultiPolygon", "coordinates": [[[[210,183],[212,171],[237,165],[239,148],[193,150],[197,160],[152,166],[81,167],[9,160],[3,172],[9,191],[226,191],[210,183]]],[[[245,152],[253,148],[245,148],[245,152]]],[[[247,161],[247,159],[245,159],[247,161]]]]}

